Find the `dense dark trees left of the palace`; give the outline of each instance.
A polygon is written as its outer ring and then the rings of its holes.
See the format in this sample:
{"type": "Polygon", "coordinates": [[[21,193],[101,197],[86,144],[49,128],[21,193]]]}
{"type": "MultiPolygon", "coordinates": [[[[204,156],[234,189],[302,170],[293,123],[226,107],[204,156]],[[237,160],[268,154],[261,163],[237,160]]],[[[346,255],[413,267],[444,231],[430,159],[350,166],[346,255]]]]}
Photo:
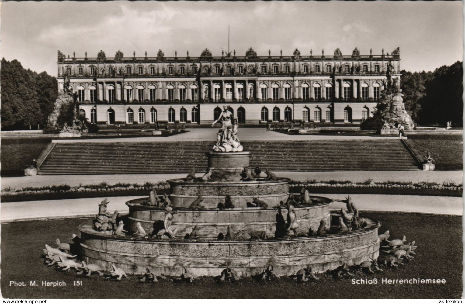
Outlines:
{"type": "Polygon", "coordinates": [[[1,60],[1,129],[44,126],[58,96],[55,77],[24,69],[14,59],[1,60]]]}

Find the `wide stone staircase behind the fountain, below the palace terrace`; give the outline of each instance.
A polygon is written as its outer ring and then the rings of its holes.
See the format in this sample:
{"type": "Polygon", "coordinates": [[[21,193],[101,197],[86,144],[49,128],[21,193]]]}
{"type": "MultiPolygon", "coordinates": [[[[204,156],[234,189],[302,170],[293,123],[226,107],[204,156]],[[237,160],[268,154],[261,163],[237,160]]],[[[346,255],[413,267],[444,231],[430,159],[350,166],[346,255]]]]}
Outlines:
{"type": "MultiPolygon", "coordinates": [[[[243,141],[250,165],[272,171],[418,170],[402,141],[243,141]]],[[[40,166],[42,175],[151,174],[206,171],[213,142],[57,143],[40,166]]]]}

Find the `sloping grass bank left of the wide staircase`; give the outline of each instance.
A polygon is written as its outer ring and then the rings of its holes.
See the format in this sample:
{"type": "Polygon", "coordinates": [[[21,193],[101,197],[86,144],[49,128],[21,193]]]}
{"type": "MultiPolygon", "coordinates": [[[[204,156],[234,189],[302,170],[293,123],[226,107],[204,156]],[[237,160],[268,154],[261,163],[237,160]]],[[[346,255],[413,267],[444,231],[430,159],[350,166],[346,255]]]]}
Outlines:
{"type": "Polygon", "coordinates": [[[24,169],[37,159],[52,139],[1,139],[1,176],[24,176],[24,169]]]}

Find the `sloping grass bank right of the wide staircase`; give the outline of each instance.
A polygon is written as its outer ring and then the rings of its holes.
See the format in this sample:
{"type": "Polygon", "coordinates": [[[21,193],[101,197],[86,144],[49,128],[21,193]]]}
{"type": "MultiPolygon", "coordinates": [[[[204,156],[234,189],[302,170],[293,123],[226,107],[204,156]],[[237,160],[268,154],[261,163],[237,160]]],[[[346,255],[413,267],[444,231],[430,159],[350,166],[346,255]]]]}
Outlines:
{"type": "Polygon", "coordinates": [[[420,161],[427,152],[436,162],[436,170],[462,170],[462,135],[409,135],[405,140],[420,161]]]}

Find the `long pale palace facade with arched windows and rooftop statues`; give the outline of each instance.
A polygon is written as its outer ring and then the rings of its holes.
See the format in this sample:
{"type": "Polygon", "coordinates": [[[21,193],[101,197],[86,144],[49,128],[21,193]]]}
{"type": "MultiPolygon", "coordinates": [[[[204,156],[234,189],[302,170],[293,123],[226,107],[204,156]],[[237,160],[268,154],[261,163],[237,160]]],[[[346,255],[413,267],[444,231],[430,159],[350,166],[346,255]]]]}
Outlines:
{"type": "Polygon", "coordinates": [[[229,105],[240,124],[304,121],[359,123],[368,118],[386,73],[400,80],[399,48],[391,54],[219,57],[70,58],[58,51],[58,86],[65,77],[77,93],[80,113],[95,124],[210,124],[229,105]]]}

